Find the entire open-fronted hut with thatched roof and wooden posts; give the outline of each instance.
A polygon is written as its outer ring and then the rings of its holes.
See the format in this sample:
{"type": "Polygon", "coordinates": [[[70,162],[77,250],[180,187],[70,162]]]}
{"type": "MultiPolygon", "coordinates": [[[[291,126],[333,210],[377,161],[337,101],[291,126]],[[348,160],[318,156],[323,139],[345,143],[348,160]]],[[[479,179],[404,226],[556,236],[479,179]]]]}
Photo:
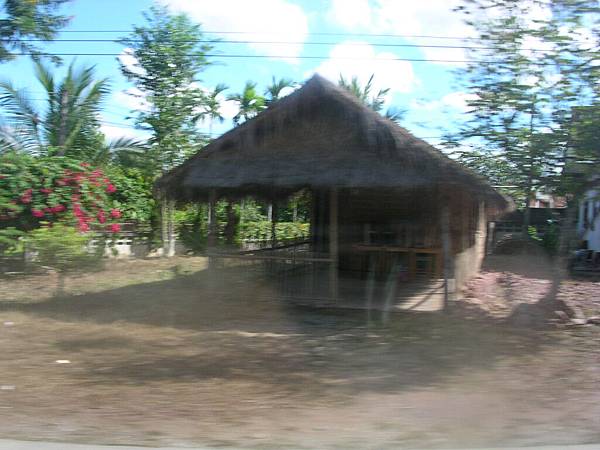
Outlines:
{"type": "Polygon", "coordinates": [[[304,251],[244,256],[286,263],[294,295],[302,290],[291,269],[305,263],[310,295],[340,302],[344,280],[367,280],[366,292],[373,279],[445,280],[447,299],[480,267],[487,216],[507,207],[483,179],[318,75],[212,141],[157,188],[179,202],[211,204],[247,196],[276,203],[309,190],[304,251]],[[327,267],[326,284],[315,282],[317,263],[327,267]]]}

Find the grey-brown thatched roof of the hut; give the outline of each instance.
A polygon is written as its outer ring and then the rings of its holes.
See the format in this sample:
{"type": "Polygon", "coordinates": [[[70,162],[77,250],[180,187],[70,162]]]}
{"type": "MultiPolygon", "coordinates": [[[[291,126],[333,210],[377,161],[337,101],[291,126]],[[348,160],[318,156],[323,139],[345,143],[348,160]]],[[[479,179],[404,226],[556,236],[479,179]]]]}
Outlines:
{"type": "Polygon", "coordinates": [[[158,180],[170,198],[310,188],[452,187],[504,206],[483,179],[315,75],[158,180]]]}

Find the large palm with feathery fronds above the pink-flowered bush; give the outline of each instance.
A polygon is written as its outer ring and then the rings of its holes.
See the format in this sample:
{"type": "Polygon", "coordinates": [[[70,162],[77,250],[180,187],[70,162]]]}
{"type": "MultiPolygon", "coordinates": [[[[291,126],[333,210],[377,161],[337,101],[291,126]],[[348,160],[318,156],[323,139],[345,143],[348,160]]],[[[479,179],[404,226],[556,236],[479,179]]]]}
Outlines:
{"type": "Polygon", "coordinates": [[[94,67],[73,64],[62,80],[34,61],[44,88],[46,107],[38,110],[26,91],[0,82],[0,147],[38,155],[87,159],[104,144],[99,113],[108,94],[108,79],[95,80],[94,67]]]}

